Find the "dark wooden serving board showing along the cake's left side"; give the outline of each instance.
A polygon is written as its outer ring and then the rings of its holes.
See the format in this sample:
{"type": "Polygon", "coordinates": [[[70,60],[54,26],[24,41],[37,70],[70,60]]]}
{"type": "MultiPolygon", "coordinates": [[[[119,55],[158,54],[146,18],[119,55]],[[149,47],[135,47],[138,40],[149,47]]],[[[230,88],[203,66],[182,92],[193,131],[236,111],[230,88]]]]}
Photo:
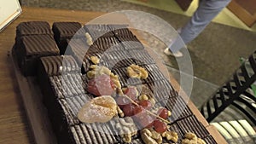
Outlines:
{"type": "Polygon", "coordinates": [[[42,102],[43,95],[38,87],[37,79],[24,77],[21,74],[15,55],[10,54],[10,59],[35,142],[37,144],[56,144],[55,134],[51,128],[46,107],[42,102]]]}

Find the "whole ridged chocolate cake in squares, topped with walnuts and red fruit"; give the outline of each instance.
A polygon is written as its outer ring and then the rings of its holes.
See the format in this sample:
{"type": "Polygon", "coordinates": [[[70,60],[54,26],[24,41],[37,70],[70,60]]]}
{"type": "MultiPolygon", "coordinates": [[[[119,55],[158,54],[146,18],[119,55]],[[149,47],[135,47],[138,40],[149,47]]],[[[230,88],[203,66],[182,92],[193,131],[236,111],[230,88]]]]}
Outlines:
{"type": "Polygon", "coordinates": [[[58,143],[216,143],[127,25],[24,22],[15,39],[58,143]]]}

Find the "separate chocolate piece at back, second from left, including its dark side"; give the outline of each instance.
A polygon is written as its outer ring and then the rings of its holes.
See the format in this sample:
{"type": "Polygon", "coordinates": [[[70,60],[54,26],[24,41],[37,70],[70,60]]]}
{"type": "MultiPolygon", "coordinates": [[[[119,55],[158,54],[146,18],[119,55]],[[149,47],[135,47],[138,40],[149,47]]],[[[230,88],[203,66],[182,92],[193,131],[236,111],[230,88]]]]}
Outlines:
{"type": "Polygon", "coordinates": [[[67,39],[71,39],[76,32],[78,36],[83,36],[83,29],[81,29],[79,22],[55,22],[52,26],[52,31],[55,33],[55,41],[58,44],[61,55],[65,54],[67,49],[67,39]],[[81,29],[81,30],[80,30],[81,29]]]}

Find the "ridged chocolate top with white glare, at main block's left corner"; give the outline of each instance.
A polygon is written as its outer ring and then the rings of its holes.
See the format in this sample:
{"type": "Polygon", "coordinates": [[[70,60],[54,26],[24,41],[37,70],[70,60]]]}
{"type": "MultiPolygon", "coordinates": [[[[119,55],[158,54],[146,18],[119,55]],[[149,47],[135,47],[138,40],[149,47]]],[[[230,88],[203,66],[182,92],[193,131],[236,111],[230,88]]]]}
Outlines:
{"type": "Polygon", "coordinates": [[[58,76],[71,72],[80,72],[80,67],[70,55],[46,56],[40,58],[48,76],[58,76]]]}

